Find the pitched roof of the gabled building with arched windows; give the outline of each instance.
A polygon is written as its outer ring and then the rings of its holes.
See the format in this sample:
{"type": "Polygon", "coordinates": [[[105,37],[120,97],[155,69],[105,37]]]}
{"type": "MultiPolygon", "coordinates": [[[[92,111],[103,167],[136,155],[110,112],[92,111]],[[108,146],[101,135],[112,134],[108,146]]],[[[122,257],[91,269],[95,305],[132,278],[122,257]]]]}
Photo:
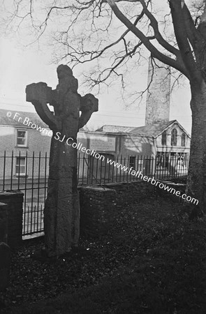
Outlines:
{"type": "Polygon", "coordinates": [[[157,124],[151,124],[149,126],[138,126],[137,128],[133,128],[133,130],[129,131],[128,133],[141,136],[152,136],[155,138],[161,135],[164,130],[171,127],[172,124],[177,124],[179,128],[181,128],[184,133],[190,137],[190,135],[186,132],[186,130],[184,130],[177,120],[160,122],[157,124]]]}

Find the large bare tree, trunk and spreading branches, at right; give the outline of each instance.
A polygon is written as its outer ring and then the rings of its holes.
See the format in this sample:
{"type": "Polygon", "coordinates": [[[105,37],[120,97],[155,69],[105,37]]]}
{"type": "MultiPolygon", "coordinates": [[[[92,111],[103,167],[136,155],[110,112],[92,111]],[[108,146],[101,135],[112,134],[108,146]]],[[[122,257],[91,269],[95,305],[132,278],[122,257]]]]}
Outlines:
{"type": "MultiPolygon", "coordinates": [[[[191,157],[186,193],[206,209],[206,3],[205,0],[15,0],[10,25],[29,22],[36,39],[52,28],[57,59],[73,66],[96,61],[85,75],[92,87],[138,66],[145,50],[184,75],[191,87],[191,157]],[[160,1],[159,1],[160,2],[160,1]],[[193,4],[193,6],[189,6],[193,4]],[[38,7],[37,7],[38,6],[38,7]],[[41,10],[41,11],[40,11],[41,10]],[[36,15],[36,12],[41,12],[36,15]],[[43,15],[45,12],[45,15],[43,15]],[[37,19],[41,17],[40,20],[37,19]],[[59,21],[54,27],[54,21],[59,21]],[[58,51],[58,52],[57,52],[58,51]],[[105,58],[107,63],[101,62],[105,58]],[[128,63],[129,62],[129,63],[128,63]]],[[[7,17],[7,20],[8,17],[7,17]]]]}

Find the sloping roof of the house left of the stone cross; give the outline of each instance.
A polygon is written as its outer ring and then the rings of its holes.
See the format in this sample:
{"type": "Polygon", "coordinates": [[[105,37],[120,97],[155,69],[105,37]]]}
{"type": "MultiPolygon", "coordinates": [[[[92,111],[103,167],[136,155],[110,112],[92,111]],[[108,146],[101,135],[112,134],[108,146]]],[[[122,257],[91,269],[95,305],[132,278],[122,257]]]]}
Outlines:
{"type": "MultiPolygon", "coordinates": [[[[31,121],[33,124],[36,124],[43,128],[49,128],[47,124],[45,124],[41,120],[41,118],[38,116],[36,112],[24,112],[24,111],[19,111],[19,110],[0,109],[0,126],[17,126],[17,127],[28,128],[28,126],[26,125],[26,122],[25,124],[23,124],[25,118],[29,118],[29,121],[31,121]],[[7,117],[8,112],[10,112],[10,117],[7,117]],[[15,113],[17,113],[17,117],[15,117],[15,113]],[[19,117],[22,118],[20,119],[20,121],[18,121],[19,117]]],[[[29,128],[30,127],[31,127],[31,124],[29,128]]]]}

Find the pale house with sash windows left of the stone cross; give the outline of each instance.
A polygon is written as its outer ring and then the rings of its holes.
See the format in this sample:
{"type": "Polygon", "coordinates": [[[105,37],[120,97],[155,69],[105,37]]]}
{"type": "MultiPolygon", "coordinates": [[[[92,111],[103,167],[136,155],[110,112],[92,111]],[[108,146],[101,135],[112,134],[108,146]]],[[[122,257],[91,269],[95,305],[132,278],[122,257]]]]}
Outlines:
{"type": "Polygon", "coordinates": [[[50,151],[50,140],[41,135],[40,129],[49,135],[50,130],[38,114],[0,110],[1,177],[43,176],[43,163],[40,167],[29,167],[30,160],[37,164],[37,159],[45,158],[50,151]]]}

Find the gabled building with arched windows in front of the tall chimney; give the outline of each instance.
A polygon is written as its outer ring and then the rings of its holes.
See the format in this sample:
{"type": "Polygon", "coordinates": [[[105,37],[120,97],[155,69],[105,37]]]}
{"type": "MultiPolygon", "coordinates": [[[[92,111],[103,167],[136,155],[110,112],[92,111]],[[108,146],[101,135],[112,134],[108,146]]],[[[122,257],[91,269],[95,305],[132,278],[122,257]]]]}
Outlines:
{"type": "Polygon", "coordinates": [[[101,132],[105,135],[107,133],[116,133],[116,136],[122,135],[122,149],[119,149],[119,154],[126,154],[126,151],[135,151],[136,154],[148,156],[163,156],[165,154],[171,157],[179,154],[189,155],[191,137],[177,120],[159,121],[159,123],[136,128],[104,125],[98,128],[96,132],[101,132]],[[146,144],[147,149],[142,147],[143,143],[146,144]],[[150,148],[149,144],[152,145],[150,148]]]}

